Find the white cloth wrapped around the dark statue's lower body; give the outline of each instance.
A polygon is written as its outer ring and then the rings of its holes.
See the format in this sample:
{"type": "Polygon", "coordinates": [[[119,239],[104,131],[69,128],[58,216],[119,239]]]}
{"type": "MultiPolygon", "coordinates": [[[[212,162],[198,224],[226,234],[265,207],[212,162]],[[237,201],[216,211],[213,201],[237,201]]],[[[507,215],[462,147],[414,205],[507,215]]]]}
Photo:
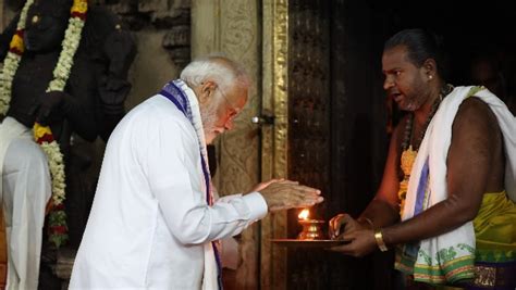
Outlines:
{"type": "Polygon", "coordinates": [[[0,143],[7,289],[37,289],[45,209],[51,196],[47,157],[32,130],[13,118],[0,124],[0,143]]]}

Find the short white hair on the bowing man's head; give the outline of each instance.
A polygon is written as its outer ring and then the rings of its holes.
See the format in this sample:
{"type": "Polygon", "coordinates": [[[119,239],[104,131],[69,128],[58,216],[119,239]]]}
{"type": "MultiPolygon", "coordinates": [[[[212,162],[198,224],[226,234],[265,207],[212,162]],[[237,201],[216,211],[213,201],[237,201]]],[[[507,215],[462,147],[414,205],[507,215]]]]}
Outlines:
{"type": "Polygon", "coordinates": [[[250,78],[242,65],[214,54],[194,60],[181,72],[180,77],[192,88],[207,80],[213,80],[223,90],[234,86],[239,88],[250,86],[250,78]]]}

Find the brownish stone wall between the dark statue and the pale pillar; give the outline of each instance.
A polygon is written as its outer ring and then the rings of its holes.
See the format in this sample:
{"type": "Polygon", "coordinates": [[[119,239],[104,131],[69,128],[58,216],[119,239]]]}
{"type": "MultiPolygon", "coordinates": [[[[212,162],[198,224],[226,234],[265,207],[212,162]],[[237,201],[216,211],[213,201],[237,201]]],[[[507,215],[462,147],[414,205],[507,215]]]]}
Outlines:
{"type": "Polygon", "coordinates": [[[132,109],[179,77],[189,62],[187,0],[96,0],[120,15],[134,33],[138,53],[130,73],[133,89],[126,100],[132,109]]]}

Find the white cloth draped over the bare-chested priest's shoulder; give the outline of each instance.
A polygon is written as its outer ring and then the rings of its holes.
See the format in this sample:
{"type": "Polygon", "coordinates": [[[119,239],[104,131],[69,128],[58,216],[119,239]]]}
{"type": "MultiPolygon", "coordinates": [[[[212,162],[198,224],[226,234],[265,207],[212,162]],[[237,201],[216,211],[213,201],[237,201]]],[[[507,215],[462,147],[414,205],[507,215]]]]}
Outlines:
{"type": "MultiPolygon", "coordinates": [[[[445,200],[449,196],[446,184],[446,157],[452,140],[452,125],[460,103],[467,98],[476,87],[457,87],[441,102],[438,112],[430,122],[425,139],[419,148],[414,163],[406,204],[403,212],[403,220],[415,215],[417,202],[417,190],[421,177],[421,171],[428,161],[430,171],[430,196],[422,205],[423,210],[445,200]]],[[[509,198],[516,200],[516,119],[507,110],[507,106],[493,93],[482,89],[474,94],[486,102],[496,116],[505,147],[506,169],[505,190],[509,198]]],[[[471,97],[472,98],[472,97],[471,97]]],[[[452,249],[457,252],[456,259],[460,255],[470,255],[470,250],[475,249],[475,231],[472,223],[465,225],[439,237],[422,240],[420,242],[416,266],[439,264],[440,259],[435,256],[442,249],[452,249]],[[459,247],[457,248],[457,244],[459,247]],[[466,244],[466,247],[463,247],[466,244]],[[471,247],[471,248],[468,248],[471,247]],[[431,260],[429,264],[429,257],[431,260]]],[[[441,261],[442,262],[442,261],[441,261]]]]}

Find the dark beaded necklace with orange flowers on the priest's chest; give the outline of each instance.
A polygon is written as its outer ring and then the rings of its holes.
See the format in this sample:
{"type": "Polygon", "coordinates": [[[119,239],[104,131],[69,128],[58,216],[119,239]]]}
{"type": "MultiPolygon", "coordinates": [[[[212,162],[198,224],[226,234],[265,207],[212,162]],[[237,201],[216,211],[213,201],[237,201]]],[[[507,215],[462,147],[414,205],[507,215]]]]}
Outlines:
{"type": "Polygon", "coordinates": [[[421,134],[419,135],[419,138],[417,138],[413,144],[410,143],[410,139],[413,137],[414,133],[414,113],[408,117],[407,124],[405,125],[405,131],[403,135],[403,142],[402,142],[402,156],[400,159],[400,167],[403,171],[403,180],[400,182],[400,190],[397,192],[397,197],[400,199],[400,215],[403,214],[403,210],[405,207],[405,199],[407,196],[407,190],[408,190],[408,180],[410,178],[410,172],[413,169],[414,161],[416,160],[417,156],[417,151],[419,149],[419,146],[422,142],[422,139],[425,138],[425,133],[427,131],[428,125],[433,118],[433,115],[435,115],[435,112],[439,109],[439,105],[441,104],[441,101],[443,100],[444,97],[446,97],[450,92],[453,90],[453,86],[450,84],[446,84],[443,86],[439,93],[439,98],[435,99],[435,101],[432,103],[432,108],[430,110],[430,114],[428,114],[427,121],[422,125],[421,134]]]}

